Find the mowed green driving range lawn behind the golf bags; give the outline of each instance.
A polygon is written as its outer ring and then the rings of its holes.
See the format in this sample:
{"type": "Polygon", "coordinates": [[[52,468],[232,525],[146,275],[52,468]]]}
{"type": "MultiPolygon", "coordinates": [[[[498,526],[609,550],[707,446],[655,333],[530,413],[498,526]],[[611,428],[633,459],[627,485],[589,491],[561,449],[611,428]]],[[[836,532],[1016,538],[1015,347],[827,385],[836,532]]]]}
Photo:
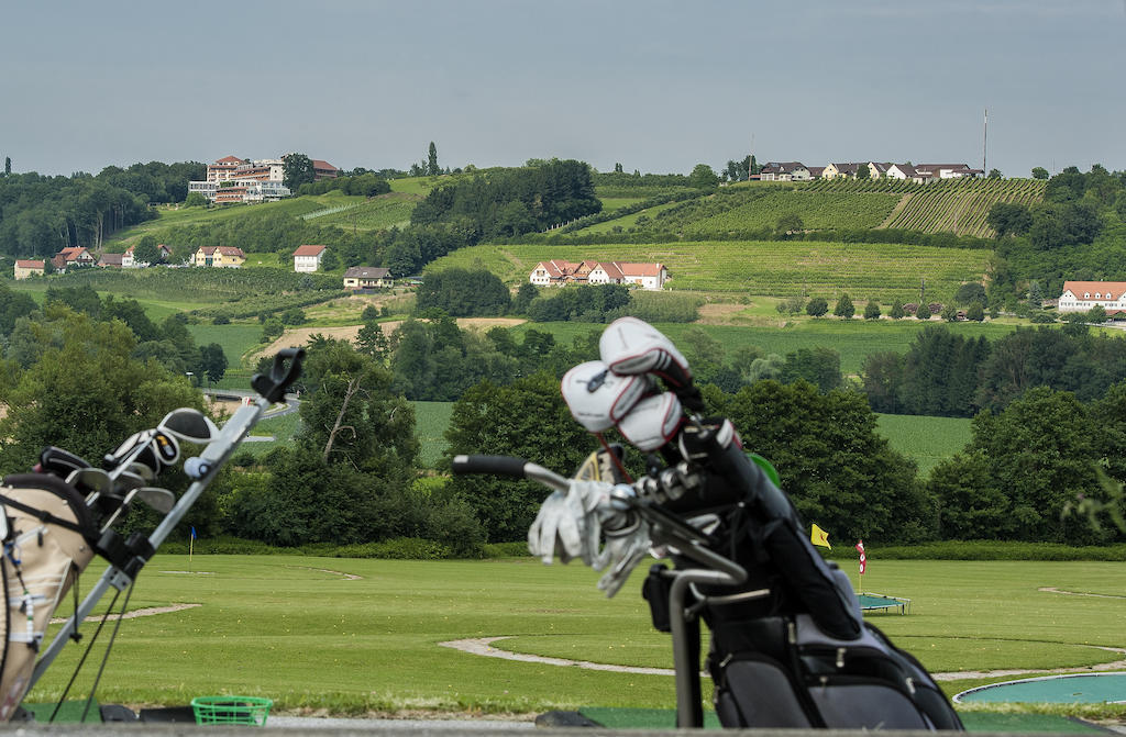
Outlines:
{"type": "MultiPolygon", "coordinates": [[[[843,568],[856,579],[855,565],[843,568]]],[[[303,556],[158,555],[131,609],[200,606],[126,620],[98,690],[104,702],[187,703],[206,694],[275,699],[277,710],[530,712],[581,705],[669,708],[669,675],[608,673],[470,655],[439,644],[509,637],[510,650],[669,667],[650,627],[644,565],[606,600],[579,564],[303,556]]],[[[88,572],[82,590],[88,591],[88,572]]],[[[912,600],[872,621],[933,672],[1076,667],[1121,658],[1120,563],[883,560],[868,546],[864,588],[912,600]],[[1055,587],[1057,593],[1042,591],[1055,587]],[[1081,594],[1098,594],[1089,596],[1081,594]]],[[[65,605],[64,605],[65,606],[65,605]]],[[[92,626],[87,626],[88,637],[92,626]]],[[[57,696],[69,646],[30,694],[57,696]]],[[[78,689],[88,686],[81,680],[78,689]]],[[[957,692],[1001,677],[944,681],[957,692]]]]}

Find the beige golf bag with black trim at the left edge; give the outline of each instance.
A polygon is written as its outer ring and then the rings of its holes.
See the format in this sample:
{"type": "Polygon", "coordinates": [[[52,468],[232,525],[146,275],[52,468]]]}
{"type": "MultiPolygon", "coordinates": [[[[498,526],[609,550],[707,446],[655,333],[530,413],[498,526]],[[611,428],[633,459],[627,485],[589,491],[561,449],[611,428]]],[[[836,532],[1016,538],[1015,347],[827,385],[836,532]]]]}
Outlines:
{"type": "Polygon", "coordinates": [[[51,615],[93,558],[98,530],[82,495],[48,474],[8,476],[0,505],[0,721],[7,721],[27,691],[51,615]]]}

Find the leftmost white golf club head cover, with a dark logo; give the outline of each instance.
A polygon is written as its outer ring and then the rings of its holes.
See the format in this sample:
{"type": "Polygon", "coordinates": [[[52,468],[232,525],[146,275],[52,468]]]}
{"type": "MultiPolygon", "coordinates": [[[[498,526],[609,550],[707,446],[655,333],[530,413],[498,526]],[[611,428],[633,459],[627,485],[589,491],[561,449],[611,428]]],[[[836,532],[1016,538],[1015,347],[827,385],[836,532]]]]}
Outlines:
{"type": "Polygon", "coordinates": [[[647,376],[619,376],[602,361],[587,361],[563,375],[571,415],[590,432],[609,430],[653,386],[647,376]]]}

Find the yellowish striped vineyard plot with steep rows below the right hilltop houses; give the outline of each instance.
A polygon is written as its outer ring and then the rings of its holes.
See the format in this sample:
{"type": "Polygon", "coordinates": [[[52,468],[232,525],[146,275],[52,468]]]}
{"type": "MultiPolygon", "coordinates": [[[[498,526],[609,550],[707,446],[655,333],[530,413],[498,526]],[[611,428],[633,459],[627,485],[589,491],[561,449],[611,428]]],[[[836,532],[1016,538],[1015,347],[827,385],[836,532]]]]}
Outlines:
{"type": "Polygon", "coordinates": [[[1037,179],[949,180],[923,185],[905,195],[903,208],[887,227],[924,233],[940,231],[988,237],[989,209],[997,203],[1033,205],[1044,199],[1045,182],[1037,179]]]}

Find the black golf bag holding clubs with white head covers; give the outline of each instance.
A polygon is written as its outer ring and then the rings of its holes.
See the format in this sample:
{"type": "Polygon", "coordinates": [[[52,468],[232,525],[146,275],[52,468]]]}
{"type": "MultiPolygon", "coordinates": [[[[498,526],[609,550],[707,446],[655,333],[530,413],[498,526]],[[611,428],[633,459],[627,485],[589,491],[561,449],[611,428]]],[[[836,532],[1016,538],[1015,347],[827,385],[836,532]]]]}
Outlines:
{"type": "MultiPolygon", "coordinates": [[[[767,473],[738,442],[724,442],[722,426],[685,433],[682,447],[707,478],[698,493],[662,506],[678,516],[696,515],[689,527],[700,531],[698,542],[745,577],[735,585],[692,583],[680,606],[670,588],[678,576],[698,575],[703,558],[673,555],[676,569],[654,566],[643,588],[654,626],[673,631],[674,640],[677,617],[698,615],[708,624],[707,668],[720,721],[750,728],[963,729],[926,668],[864,621],[848,576],[812,546],[793,503],[767,473]]],[[[681,626],[681,632],[689,640],[688,660],[698,665],[698,622],[687,630],[681,626]]],[[[697,694],[685,704],[698,709],[698,683],[694,687],[697,694]]],[[[698,713],[691,719],[700,720],[698,713]]]]}

